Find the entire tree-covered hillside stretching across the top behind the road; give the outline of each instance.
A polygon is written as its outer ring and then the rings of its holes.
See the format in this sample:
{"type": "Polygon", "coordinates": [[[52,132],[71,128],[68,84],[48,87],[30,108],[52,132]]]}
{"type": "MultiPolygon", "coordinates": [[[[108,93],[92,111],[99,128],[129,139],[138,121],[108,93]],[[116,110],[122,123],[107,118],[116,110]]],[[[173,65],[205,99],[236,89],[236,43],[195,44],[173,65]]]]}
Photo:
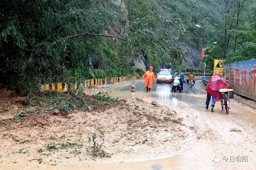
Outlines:
{"type": "Polygon", "coordinates": [[[251,0],[2,0],[0,6],[0,83],[23,89],[141,74],[131,69],[138,57],[155,70],[182,67],[191,48],[207,42],[209,63],[256,53],[251,0]]]}

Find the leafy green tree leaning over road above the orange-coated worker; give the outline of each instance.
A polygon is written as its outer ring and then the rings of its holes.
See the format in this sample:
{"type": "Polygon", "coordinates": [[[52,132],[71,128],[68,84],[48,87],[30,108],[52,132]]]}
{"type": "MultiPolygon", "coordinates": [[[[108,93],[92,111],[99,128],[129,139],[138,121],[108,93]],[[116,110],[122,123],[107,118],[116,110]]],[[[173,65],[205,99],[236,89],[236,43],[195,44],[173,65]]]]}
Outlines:
{"type": "Polygon", "coordinates": [[[155,1],[125,0],[129,11],[129,32],[124,36],[128,52],[138,55],[143,51],[146,65],[159,68],[160,64],[181,64],[181,55],[187,54],[179,40],[185,35],[185,26],[179,18],[160,11],[155,1]],[[168,59],[166,58],[168,55],[168,59]]]}

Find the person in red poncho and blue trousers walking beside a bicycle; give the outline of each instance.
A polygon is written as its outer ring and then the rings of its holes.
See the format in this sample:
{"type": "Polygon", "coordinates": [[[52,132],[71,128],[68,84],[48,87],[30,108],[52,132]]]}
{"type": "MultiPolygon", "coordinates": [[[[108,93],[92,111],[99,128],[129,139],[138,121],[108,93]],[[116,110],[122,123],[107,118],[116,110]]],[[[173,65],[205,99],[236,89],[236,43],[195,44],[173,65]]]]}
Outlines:
{"type": "Polygon", "coordinates": [[[207,91],[206,97],[206,109],[208,109],[211,96],[212,96],[212,107],[211,111],[213,112],[213,107],[215,106],[215,102],[220,100],[220,89],[227,89],[228,84],[220,77],[220,72],[217,71],[215,76],[212,76],[209,80],[208,85],[205,90],[207,91]]]}

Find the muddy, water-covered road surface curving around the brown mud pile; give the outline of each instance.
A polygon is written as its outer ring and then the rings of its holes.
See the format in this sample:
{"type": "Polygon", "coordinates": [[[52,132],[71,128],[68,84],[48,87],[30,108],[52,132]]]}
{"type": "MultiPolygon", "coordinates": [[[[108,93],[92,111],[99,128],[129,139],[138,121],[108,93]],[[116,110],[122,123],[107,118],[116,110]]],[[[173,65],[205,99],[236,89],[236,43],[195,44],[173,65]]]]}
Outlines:
{"type": "MultiPolygon", "coordinates": [[[[256,112],[231,100],[230,112],[221,111],[220,102],[214,112],[205,109],[204,86],[200,81],[192,89],[184,87],[184,92],[171,92],[170,84],[153,84],[150,93],[145,92],[143,81],[135,82],[136,92],[130,92],[131,83],[120,83],[99,89],[88,89],[87,94],[108,92],[112,97],[141,98],[174,108],[183,118],[184,130],[188,138],[182,149],[175,153],[155,155],[145,159],[123,159],[109,162],[108,159],[95,162],[72,160],[67,165],[39,166],[22,163],[4,165],[1,169],[255,169],[256,167],[256,112]],[[230,131],[239,129],[241,132],[230,131]],[[212,161],[216,155],[220,162],[212,161]],[[226,160],[226,158],[228,158],[226,160]],[[234,158],[234,161],[233,161],[234,158]],[[241,158],[241,159],[239,159],[241,158]],[[236,161],[236,159],[238,161],[236,161]],[[239,161],[241,160],[241,161],[239,161]]],[[[148,151],[150,152],[150,151],[148,151]]]]}

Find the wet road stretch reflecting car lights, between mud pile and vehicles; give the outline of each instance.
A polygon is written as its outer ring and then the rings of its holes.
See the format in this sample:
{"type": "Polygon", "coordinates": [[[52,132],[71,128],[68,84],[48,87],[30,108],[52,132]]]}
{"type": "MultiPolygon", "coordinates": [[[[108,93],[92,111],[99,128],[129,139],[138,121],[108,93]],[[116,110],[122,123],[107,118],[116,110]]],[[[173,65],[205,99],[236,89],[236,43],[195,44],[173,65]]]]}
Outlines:
{"type": "Polygon", "coordinates": [[[201,79],[195,80],[195,86],[189,88],[185,83],[183,87],[183,92],[171,92],[172,84],[169,83],[159,83],[153,82],[151,91],[146,92],[144,87],[145,80],[134,81],[135,92],[131,92],[132,82],[125,82],[121,84],[114,84],[112,86],[107,86],[103,91],[109,92],[113,97],[138,97],[145,100],[156,100],[157,102],[166,101],[169,104],[175,104],[178,101],[183,101],[187,103],[198,103],[204,105],[206,92],[204,91],[204,86],[201,79]]]}

